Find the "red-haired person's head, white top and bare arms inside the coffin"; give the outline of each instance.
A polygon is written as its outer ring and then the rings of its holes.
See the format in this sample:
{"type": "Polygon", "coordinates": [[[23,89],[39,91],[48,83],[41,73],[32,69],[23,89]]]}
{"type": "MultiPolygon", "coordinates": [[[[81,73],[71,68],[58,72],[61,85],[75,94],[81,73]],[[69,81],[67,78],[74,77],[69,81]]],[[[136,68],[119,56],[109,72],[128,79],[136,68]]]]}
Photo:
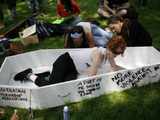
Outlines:
{"type": "Polygon", "coordinates": [[[123,37],[116,35],[113,36],[112,39],[107,43],[106,48],[95,48],[91,54],[92,65],[87,70],[88,75],[96,75],[98,69],[105,66],[107,61],[110,64],[110,68],[105,68],[106,70],[111,69],[109,71],[117,71],[124,69],[123,67],[117,65],[114,59],[118,55],[123,56],[126,45],[127,44],[123,37]]]}

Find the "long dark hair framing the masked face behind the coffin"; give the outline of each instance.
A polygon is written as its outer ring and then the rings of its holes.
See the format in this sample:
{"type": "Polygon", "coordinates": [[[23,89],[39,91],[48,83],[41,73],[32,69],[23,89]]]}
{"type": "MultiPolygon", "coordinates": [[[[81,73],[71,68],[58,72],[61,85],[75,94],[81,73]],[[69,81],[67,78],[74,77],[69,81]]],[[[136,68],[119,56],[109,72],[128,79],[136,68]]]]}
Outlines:
{"type": "Polygon", "coordinates": [[[67,48],[75,48],[75,45],[73,43],[73,38],[71,37],[71,33],[75,33],[75,32],[78,32],[78,33],[82,33],[82,45],[81,45],[81,48],[88,48],[89,45],[87,43],[87,40],[86,40],[86,35],[85,35],[85,32],[83,30],[83,27],[81,26],[74,26],[70,32],[68,33],[68,36],[67,36],[67,45],[66,47],[67,48]]]}

